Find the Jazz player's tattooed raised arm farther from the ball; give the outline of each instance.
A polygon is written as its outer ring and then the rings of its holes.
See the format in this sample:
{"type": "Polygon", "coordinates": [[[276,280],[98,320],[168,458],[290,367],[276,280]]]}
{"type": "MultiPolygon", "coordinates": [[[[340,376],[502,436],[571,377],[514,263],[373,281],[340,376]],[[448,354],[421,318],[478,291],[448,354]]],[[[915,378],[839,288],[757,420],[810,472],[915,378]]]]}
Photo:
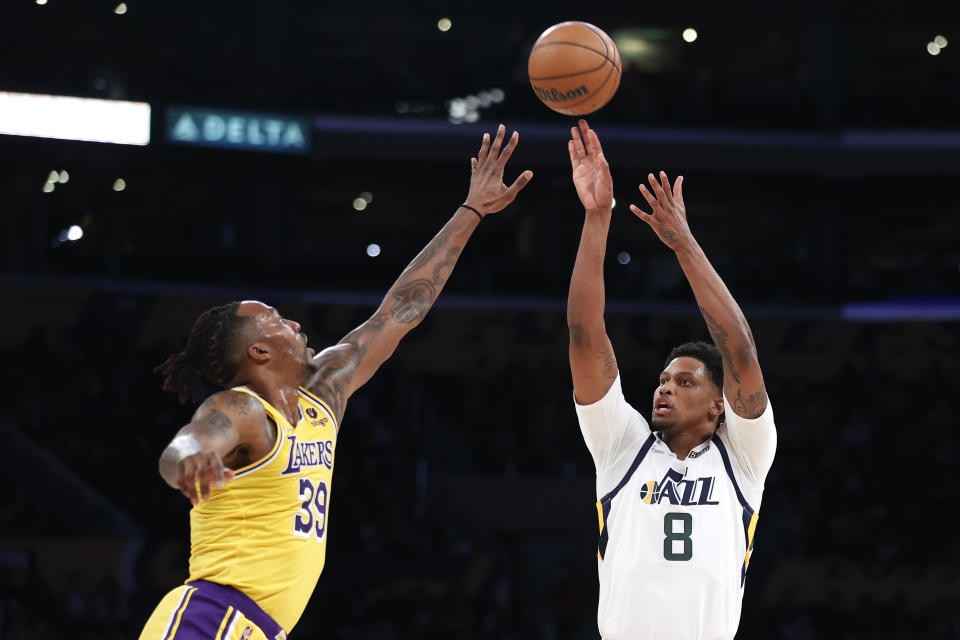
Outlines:
{"type": "Polygon", "coordinates": [[[737,301],[690,231],[683,205],[683,176],[676,179],[672,188],[663,171],[659,180],[652,173],[647,179],[650,189],[641,184],[640,193],[652,213],[645,213],[632,204],[630,209],[673,249],[697,298],[713,342],[723,357],[724,395],[737,415],[756,418],[767,407],[767,391],[757,360],[757,347],[737,301]]]}

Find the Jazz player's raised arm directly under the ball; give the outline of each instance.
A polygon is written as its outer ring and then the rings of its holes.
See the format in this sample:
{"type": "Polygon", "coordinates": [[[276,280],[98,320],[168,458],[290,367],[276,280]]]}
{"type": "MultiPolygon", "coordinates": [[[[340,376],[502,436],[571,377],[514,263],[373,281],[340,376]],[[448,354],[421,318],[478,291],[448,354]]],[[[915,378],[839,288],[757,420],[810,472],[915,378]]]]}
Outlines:
{"type": "Polygon", "coordinates": [[[580,247],[567,294],[570,373],[580,404],[602,398],[617,378],[617,360],[603,322],[603,259],[613,210],[613,179],[597,134],[585,120],[570,130],[573,184],[584,208],[580,247]]]}

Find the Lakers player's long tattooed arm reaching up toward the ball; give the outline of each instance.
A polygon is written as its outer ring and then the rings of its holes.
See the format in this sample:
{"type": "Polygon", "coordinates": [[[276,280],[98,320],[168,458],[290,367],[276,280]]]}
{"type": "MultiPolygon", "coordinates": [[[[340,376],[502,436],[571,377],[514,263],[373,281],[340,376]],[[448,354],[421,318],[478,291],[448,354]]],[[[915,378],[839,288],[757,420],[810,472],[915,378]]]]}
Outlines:
{"type": "Polygon", "coordinates": [[[450,221],[403,270],[366,322],[338,344],[317,354],[317,372],[307,386],[331,405],[338,422],[350,395],[376,373],[400,340],[427,315],[481,216],[496,213],[513,202],[533,177],[532,171],[524,171],[509,187],[503,183],[504,168],[519,139],[514,131],[501,151],[505,131],[500,125],[492,143],[490,135],[483,134],[477,157],[470,159],[466,206],[457,208],[450,221]]]}

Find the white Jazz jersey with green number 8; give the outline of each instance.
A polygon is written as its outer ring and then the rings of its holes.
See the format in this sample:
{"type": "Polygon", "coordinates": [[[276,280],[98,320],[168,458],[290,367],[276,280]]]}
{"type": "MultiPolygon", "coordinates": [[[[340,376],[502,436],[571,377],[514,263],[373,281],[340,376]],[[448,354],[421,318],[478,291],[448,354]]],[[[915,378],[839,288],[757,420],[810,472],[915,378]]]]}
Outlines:
{"type": "Polygon", "coordinates": [[[597,467],[600,606],[604,640],[728,640],[753,547],[763,482],[777,436],[770,402],[735,414],[677,459],[627,404],[620,376],[576,405],[597,467]]]}

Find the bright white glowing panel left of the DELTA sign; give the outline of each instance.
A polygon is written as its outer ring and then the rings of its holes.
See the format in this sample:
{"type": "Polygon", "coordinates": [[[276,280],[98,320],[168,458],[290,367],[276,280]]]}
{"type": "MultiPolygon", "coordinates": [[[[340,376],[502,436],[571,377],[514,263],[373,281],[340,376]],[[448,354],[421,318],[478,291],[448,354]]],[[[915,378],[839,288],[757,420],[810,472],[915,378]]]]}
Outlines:
{"type": "Polygon", "coordinates": [[[147,145],[150,105],[0,91],[0,134],[147,145]]]}

